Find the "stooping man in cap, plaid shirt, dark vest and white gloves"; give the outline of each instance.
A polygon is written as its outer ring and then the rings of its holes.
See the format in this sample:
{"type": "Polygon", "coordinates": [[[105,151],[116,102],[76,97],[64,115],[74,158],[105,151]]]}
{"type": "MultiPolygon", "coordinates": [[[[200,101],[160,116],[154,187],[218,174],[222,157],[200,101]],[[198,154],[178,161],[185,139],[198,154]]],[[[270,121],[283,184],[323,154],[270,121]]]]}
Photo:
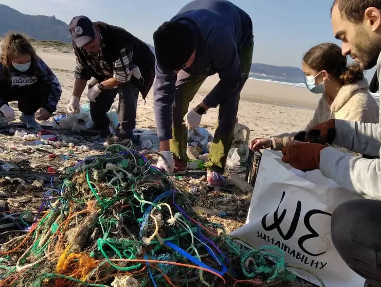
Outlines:
{"type": "Polygon", "coordinates": [[[128,145],[135,129],[139,91],[146,98],[154,77],[155,57],[148,45],[120,27],[74,17],[69,30],[73,38],[77,67],[69,114],[79,113],[79,102],[88,85],[90,114],[94,129],[110,133],[106,113],[119,94],[119,125],[105,146],[128,145]]]}

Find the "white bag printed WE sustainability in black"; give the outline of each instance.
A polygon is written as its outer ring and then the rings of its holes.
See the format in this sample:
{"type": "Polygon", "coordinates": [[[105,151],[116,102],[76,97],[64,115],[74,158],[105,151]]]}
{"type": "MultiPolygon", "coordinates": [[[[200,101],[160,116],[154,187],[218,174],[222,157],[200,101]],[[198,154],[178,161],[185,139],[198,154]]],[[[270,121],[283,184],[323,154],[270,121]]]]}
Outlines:
{"type": "MultiPolygon", "coordinates": [[[[331,214],[359,195],[340,188],[319,170],[306,173],[282,163],[280,152],[265,150],[259,166],[246,225],[231,235],[262,247],[283,250],[289,265],[318,275],[327,287],[363,286],[337,253],[331,239],[331,214]]],[[[294,273],[320,286],[314,276],[294,273]]]]}

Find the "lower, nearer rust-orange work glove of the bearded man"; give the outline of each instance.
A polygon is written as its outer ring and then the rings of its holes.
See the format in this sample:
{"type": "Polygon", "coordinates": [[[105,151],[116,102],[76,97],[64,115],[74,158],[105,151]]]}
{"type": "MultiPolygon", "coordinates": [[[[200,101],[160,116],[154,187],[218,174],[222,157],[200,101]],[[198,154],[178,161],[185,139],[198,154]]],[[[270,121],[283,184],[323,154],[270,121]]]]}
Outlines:
{"type": "Polygon", "coordinates": [[[283,163],[296,169],[313,170],[320,167],[320,151],[328,145],[293,142],[282,149],[283,163]]]}

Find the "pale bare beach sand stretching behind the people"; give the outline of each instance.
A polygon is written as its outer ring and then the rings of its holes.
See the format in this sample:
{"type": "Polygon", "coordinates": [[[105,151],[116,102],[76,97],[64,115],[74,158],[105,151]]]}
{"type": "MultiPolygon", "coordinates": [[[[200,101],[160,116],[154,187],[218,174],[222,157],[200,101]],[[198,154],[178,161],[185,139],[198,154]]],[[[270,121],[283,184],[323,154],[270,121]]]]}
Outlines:
{"type": "MultiPolygon", "coordinates": [[[[53,69],[62,85],[63,94],[56,113],[66,113],[66,106],[74,87],[74,53],[44,49],[38,50],[38,54],[53,69]]],[[[218,81],[217,75],[209,77],[190,106],[201,102],[203,95],[208,94],[218,81]]],[[[87,89],[82,95],[81,103],[87,101],[86,92],[87,89]]],[[[248,79],[241,94],[239,122],[249,127],[251,139],[286,131],[299,131],[304,129],[312,118],[318,100],[318,95],[305,88],[248,79]]],[[[152,89],[145,104],[141,98],[139,99],[137,115],[137,128],[155,128],[152,89]]],[[[202,126],[214,132],[217,116],[217,109],[209,110],[203,116],[202,126]]]]}

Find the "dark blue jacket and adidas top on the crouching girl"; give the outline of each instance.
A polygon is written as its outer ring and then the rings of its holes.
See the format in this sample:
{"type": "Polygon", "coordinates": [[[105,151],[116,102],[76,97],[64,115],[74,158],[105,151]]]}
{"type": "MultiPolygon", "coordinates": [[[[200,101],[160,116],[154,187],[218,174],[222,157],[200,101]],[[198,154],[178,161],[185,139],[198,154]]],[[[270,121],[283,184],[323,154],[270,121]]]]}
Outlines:
{"type": "MultiPolygon", "coordinates": [[[[3,75],[4,67],[2,64],[0,64],[0,79],[1,81],[6,81],[6,84],[14,88],[31,85],[37,81],[43,81],[47,83],[48,85],[50,85],[51,90],[50,90],[50,95],[48,97],[48,102],[43,107],[48,112],[53,113],[56,111],[58,101],[61,98],[61,94],[62,94],[61,84],[60,84],[60,81],[57,79],[56,75],[48,67],[48,65],[40,58],[38,58],[38,65],[39,65],[39,68],[38,68],[39,73],[37,73],[36,75],[30,75],[29,70],[23,73],[11,67],[7,75],[7,78],[4,79],[4,75],[3,75]]],[[[0,106],[2,106],[3,104],[5,104],[5,102],[0,95],[0,106]]]]}

